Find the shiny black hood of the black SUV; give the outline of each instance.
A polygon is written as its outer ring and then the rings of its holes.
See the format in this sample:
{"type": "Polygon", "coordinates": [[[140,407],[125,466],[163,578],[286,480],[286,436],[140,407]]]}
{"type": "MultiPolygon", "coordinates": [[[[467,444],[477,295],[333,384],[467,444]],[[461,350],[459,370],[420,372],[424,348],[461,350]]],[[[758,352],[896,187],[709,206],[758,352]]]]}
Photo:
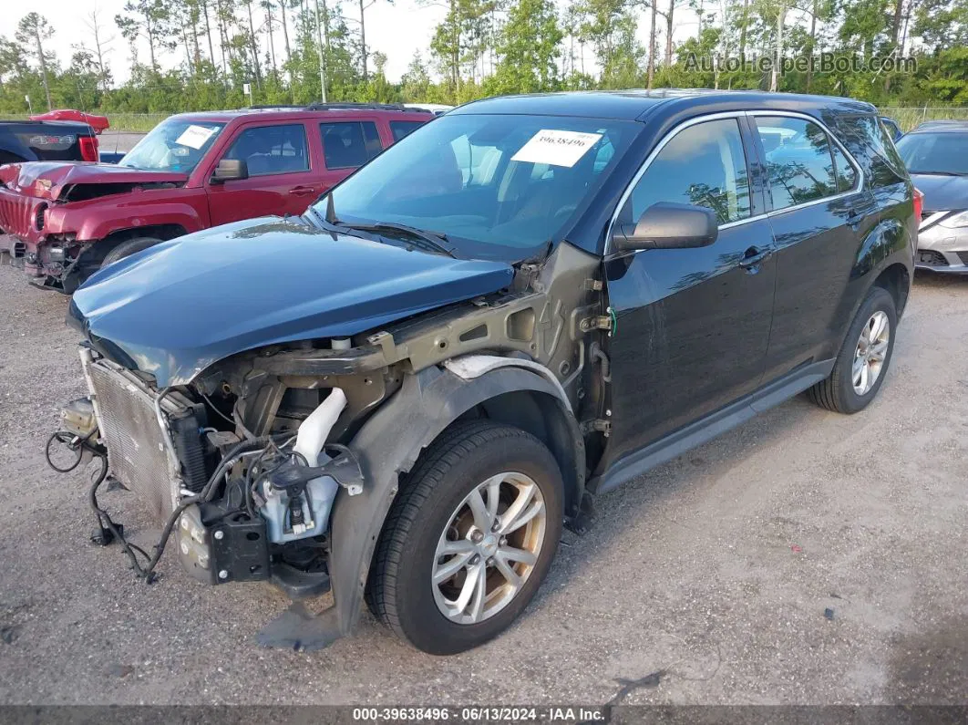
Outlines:
{"type": "Polygon", "coordinates": [[[77,289],[69,317],[99,350],[165,387],[236,352],[349,337],[496,292],[513,274],[503,262],[408,252],[272,217],[125,257],[77,289]]]}

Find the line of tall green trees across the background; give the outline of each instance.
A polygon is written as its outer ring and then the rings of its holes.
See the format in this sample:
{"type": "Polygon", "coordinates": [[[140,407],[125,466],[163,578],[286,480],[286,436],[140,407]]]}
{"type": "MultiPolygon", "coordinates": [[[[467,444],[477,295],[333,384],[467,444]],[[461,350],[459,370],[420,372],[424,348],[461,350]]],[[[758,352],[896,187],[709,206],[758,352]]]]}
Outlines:
{"type": "Polygon", "coordinates": [[[25,96],[35,111],[305,104],[323,97],[323,82],[327,100],[354,102],[708,87],[968,105],[968,0],[416,0],[443,2],[446,15],[390,82],[366,23],[392,2],[128,0],[113,18],[88,15],[69,59],[51,52],[48,19],[28,13],[13,38],[0,37],[0,112],[25,112],[25,96]],[[106,60],[120,44],[123,83],[106,60]],[[780,58],[821,53],[851,64],[777,70],[780,58]],[[736,58],[774,63],[737,67],[736,58]],[[917,69],[884,68],[899,58],[917,69]]]}

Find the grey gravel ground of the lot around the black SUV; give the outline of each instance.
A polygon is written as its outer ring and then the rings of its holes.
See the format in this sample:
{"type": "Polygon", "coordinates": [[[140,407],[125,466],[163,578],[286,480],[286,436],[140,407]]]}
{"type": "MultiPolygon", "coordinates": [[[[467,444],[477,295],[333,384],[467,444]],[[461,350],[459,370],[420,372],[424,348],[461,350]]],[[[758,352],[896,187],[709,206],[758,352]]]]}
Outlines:
{"type": "MultiPolygon", "coordinates": [[[[525,615],[450,658],[368,613],[329,649],[259,649],[277,590],[169,555],[147,587],[87,544],[84,475],[42,454],[83,393],[66,303],[0,267],[0,702],[968,702],[968,279],[919,277],[866,411],[797,399],[599,498],[525,615]]],[[[103,502],[150,542],[132,496],[103,502]]]]}

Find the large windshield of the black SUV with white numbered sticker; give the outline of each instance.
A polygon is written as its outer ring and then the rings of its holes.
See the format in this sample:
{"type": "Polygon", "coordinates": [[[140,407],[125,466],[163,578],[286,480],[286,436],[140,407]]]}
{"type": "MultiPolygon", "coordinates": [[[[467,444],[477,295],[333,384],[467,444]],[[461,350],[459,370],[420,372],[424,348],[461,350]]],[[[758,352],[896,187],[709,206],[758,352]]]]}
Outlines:
{"type": "MultiPolygon", "coordinates": [[[[333,191],[347,225],[397,224],[460,251],[501,257],[537,248],[611,171],[641,125],[525,115],[444,115],[384,151],[333,191]]],[[[315,206],[326,216],[327,199],[315,206]]],[[[520,258],[526,255],[518,255],[520,258]]]]}

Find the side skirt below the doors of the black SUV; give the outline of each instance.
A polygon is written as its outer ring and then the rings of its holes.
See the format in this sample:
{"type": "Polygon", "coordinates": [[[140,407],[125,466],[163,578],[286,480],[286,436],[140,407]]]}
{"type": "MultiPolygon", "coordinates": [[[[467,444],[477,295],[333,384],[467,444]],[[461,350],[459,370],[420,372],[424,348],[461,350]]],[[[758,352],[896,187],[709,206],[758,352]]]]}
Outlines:
{"type": "Polygon", "coordinates": [[[815,383],[828,378],[833,370],[833,363],[833,360],[804,363],[796,370],[773,380],[735,403],[719,408],[705,418],[625,455],[612,468],[590,479],[589,491],[604,494],[618,488],[650,468],[661,466],[697,445],[716,438],[731,428],[736,428],[758,413],[788,401],[815,383]]]}

